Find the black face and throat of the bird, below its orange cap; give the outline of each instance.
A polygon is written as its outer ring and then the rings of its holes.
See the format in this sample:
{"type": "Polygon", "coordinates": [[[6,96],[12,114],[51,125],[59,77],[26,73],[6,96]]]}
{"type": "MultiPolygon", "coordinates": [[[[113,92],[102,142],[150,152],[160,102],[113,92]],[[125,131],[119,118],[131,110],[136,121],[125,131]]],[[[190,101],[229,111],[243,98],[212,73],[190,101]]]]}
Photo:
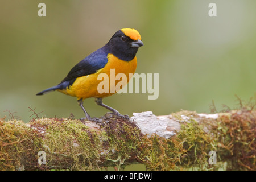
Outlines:
{"type": "Polygon", "coordinates": [[[124,61],[131,61],[134,59],[138,47],[134,47],[132,43],[136,42],[126,36],[121,30],[115,32],[112,38],[109,40],[111,53],[124,61]]]}

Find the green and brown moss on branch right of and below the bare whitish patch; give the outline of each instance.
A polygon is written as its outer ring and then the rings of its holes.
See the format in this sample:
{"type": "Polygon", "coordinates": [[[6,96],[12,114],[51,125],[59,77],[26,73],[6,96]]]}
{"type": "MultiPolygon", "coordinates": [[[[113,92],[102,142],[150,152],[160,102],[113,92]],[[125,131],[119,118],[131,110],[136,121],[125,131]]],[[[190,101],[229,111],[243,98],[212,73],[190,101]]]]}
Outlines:
{"type": "Polygon", "coordinates": [[[152,170],[255,170],[256,111],[220,113],[215,121],[194,112],[175,113],[189,117],[175,137],[143,138],[139,159],[152,170]],[[216,151],[217,164],[209,164],[209,152],[216,151]]]}

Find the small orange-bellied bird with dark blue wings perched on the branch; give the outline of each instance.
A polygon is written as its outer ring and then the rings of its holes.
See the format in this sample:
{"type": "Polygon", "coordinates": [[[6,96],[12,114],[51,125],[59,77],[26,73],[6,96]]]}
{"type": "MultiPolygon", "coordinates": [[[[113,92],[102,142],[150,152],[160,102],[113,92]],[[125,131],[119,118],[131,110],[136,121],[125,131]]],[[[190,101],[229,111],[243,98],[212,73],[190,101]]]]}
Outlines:
{"type": "MultiPolygon", "coordinates": [[[[137,30],[134,28],[122,28],[115,32],[105,46],[97,49],[97,51],[77,63],[60,84],[43,90],[36,95],[40,96],[57,90],[69,96],[77,97],[77,102],[85,114],[85,118],[81,118],[81,121],[86,119],[87,121],[102,123],[100,119],[90,117],[85,110],[83,103],[86,98],[94,98],[97,105],[112,111],[114,115],[126,118],[127,115],[120,114],[117,110],[102,102],[103,98],[113,95],[118,90],[114,90],[114,92],[98,92],[98,84],[101,82],[101,80],[98,80],[98,76],[101,73],[110,76],[111,70],[114,69],[115,76],[118,73],[123,73],[127,76],[125,83],[127,84],[130,80],[129,74],[135,73],[137,68],[136,53],[141,46],[143,46],[143,42],[137,30]]],[[[114,83],[115,86],[117,81],[114,83]]],[[[109,84],[109,90],[111,89],[110,86],[111,84],[109,84]]]]}

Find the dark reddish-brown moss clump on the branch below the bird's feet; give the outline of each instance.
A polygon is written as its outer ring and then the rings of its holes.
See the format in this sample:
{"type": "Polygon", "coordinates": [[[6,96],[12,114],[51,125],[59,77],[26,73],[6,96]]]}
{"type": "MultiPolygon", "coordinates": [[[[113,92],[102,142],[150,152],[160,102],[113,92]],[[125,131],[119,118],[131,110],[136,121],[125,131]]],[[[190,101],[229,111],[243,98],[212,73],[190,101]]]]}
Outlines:
{"type": "Polygon", "coordinates": [[[111,119],[104,126],[107,140],[104,142],[105,158],[108,166],[118,166],[118,169],[125,166],[126,161],[134,160],[137,153],[137,148],[142,144],[141,130],[125,119],[111,119]]]}

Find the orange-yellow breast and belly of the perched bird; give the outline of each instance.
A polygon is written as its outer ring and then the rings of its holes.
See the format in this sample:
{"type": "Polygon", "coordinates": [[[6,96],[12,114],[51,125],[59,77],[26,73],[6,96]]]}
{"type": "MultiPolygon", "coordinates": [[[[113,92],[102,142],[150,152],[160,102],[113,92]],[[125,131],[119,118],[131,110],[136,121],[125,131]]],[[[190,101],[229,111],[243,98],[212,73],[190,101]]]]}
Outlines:
{"type": "MultiPolygon", "coordinates": [[[[131,61],[123,61],[118,59],[112,54],[108,54],[108,63],[105,65],[104,68],[98,70],[96,73],[87,75],[87,76],[82,76],[76,78],[76,81],[73,83],[73,85],[69,86],[69,88],[66,88],[65,90],[58,90],[64,94],[68,94],[69,96],[75,96],[77,97],[78,100],[80,99],[86,99],[90,97],[95,97],[95,98],[102,98],[102,97],[107,97],[111,96],[112,94],[118,92],[118,90],[114,89],[113,93],[113,88],[110,88],[110,86],[117,85],[120,80],[115,80],[114,84],[113,82],[110,82],[110,69],[114,69],[114,78],[118,73],[124,73],[126,75],[127,80],[123,82],[123,86],[125,86],[125,83],[127,83],[130,78],[129,78],[129,73],[134,73],[137,68],[137,58],[134,57],[133,60],[131,61]],[[98,75],[100,73],[106,73],[109,77],[109,88],[108,88],[108,93],[99,93],[98,92],[98,84],[102,82],[102,80],[98,80],[98,75]]],[[[113,70],[112,70],[113,73],[113,70]]],[[[122,87],[121,87],[122,89],[122,87]]]]}

